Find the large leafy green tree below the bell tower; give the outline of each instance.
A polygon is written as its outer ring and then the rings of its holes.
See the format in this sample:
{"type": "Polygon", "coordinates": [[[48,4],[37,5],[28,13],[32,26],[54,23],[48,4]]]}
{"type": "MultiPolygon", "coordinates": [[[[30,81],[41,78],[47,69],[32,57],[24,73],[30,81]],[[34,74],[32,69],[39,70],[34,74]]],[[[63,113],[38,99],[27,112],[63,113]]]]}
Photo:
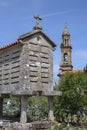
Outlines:
{"type": "Polygon", "coordinates": [[[54,98],[54,113],[57,120],[69,122],[73,115],[80,116],[87,109],[87,73],[66,73],[60,79],[56,90],[61,97],[54,98]]]}

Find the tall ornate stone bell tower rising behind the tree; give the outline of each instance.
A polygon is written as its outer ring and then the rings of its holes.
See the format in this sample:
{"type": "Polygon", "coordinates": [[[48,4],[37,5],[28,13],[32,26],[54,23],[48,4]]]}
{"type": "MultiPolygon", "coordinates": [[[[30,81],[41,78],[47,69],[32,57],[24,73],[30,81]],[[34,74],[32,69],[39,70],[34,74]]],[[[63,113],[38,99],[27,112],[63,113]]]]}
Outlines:
{"type": "Polygon", "coordinates": [[[70,45],[70,33],[65,25],[62,33],[60,75],[72,71],[72,46],[70,45]]]}

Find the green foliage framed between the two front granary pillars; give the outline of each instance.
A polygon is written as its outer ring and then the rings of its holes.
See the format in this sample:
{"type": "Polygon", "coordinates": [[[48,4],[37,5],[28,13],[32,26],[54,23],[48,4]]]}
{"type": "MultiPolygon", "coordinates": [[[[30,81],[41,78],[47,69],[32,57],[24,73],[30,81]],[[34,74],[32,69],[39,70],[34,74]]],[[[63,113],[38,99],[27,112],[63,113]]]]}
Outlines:
{"type": "Polygon", "coordinates": [[[48,101],[43,96],[33,96],[29,98],[27,114],[30,120],[47,119],[48,116],[48,101]]]}

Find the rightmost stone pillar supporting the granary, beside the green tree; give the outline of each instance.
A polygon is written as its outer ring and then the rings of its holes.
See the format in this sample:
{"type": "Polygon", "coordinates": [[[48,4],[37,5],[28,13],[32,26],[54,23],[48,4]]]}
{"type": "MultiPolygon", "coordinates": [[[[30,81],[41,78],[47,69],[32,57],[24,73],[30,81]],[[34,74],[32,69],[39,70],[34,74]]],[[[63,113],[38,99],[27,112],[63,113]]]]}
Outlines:
{"type": "Polygon", "coordinates": [[[51,120],[52,122],[54,122],[54,114],[53,114],[53,97],[50,96],[48,97],[48,105],[49,105],[49,120],[51,120]]]}

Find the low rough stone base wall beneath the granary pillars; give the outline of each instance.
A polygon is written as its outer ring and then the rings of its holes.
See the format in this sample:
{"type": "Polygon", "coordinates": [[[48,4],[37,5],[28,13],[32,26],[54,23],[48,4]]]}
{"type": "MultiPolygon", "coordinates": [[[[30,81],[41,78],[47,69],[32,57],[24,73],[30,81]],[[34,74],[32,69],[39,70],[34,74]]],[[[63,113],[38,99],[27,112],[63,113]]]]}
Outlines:
{"type": "Polygon", "coordinates": [[[32,123],[3,122],[0,130],[50,130],[50,121],[36,121],[32,123]]]}

